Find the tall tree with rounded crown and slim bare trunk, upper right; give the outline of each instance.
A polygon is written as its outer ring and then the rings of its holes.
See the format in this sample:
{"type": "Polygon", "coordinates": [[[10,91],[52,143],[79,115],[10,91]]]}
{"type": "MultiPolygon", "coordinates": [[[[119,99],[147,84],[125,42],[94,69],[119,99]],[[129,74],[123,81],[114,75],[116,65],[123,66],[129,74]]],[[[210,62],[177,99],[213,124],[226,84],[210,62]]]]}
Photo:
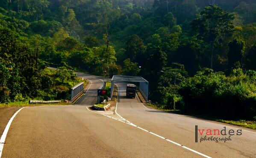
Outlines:
{"type": "Polygon", "coordinates": [[[198,33],[197,37],[203,38],[211,47],[211,68],[213,68],[216,47],[231,35],[234,28],[232,20],[234,20],[234,15],[225,12],[218,6],[210,5],[191,22],[192,29],[198,33]]]}

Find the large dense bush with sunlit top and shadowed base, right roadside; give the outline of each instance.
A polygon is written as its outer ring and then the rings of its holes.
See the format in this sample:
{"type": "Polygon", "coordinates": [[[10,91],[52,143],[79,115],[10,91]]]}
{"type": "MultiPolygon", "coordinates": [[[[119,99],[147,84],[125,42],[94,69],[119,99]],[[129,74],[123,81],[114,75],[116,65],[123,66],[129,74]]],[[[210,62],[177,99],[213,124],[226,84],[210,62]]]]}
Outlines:
{"type": "Polygon", "coordinates": [[[198,72],[180,84],[178,92],[185,102],[183,110],[225,119],[253,119],[256,115],[254,80],[241,69],[233,70],[230,76],[208,72],[198,72]]]}

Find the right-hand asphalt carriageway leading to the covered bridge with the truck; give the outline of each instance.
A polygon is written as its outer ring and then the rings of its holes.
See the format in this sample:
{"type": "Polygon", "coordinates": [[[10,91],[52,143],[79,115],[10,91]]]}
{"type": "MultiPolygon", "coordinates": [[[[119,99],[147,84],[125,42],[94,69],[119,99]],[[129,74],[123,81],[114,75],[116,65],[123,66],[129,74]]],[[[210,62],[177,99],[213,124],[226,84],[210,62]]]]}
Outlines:
{"type": "MultiPolygon", "coordinates": [[[[232,140],[226,143],[216,143],[215,141],[195,143],[195,125],[198,126],[198,129],[220,130],[224,129],[225,125],[198,120],[184,115],[148,109],[138,102],[137,99],[132,99],[131,101],[124,97],[126,91],[125,83],[118,83],[117,85],[120,96],[118,114],[133,124],[210,157],[256,158],[256,131],[242,129],[242,135],[234,135],[231,137],[232,140]]],[[[240,127],[231,127],[230,125],[227,125],[226,128],[227,131],[232,129],[235,132],[241,129],[240,127]]]]}

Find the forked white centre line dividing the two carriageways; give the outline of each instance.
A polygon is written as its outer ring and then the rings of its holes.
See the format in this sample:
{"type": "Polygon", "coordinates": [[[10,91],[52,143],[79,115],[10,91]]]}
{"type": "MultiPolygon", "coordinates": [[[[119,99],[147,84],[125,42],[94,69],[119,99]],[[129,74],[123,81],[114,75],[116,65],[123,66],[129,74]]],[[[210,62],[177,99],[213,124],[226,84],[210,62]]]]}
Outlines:
{"type": "MultiPolygon", "coordinates": [[[[117,85],[117,87],[118,87],[118,85],[117,85]]],[[[122,119],[126,120],[124,117],[122,117],[120,114],[118,114],[117,108],[118,108],[118,96],[117,96],[117,102],[116,102],[116,107],[115,107],[115,114],[117,114],[117,115],[118,115],[119,117],[121,117],[122,119]]],[[[88,107],[87,107],[87,109],[88,109],[89,111],[91,111],[88,107]]],[[[95,111],[93,111],[93,112],[95,112],[95,111]]],[[[100,114],[100,113],[98,113],[98,112],[95,112],[95,113],[100,114]]],[[[104,115],[104,114],[101,114],[101,115],[104,115]]],[[[106,115],[104,115],[104,116],[106,116],[106,115]]],[[[114,119],[114,120],[121,121],[121,120],[119,120],[119,119],[115,119],[115,118],[110,117],[110,116],[107,116],[107,117],[112,118],[112,119],[114,119]]],[[[181,144],[179,144],[179,143],[176,143],[176,142],[174,142],[174,141],[172,141],[172,140],[166,139],[166,138],[164,138],[164,137],[162,137],[162,136],[160,136],[160,135],[157,135],[157,134],[155,134],[155,133],[153,133],[153,132],[150,132],[150,131],[148,131],[148,130],[146,130],[146,129],[143,129],[143,128],[139,127],[139,126],[136,126],[135,124],[129,122],[128,120],[126,120],[126,121],[127,121],[127,122],[124,122],[124,121],[121,121],[121,122],[127,123],[127,124],[130,125],[130,126],[134,126],[134,127],[138,128],[138,129],[143,130],[144,132],[147,132],[147,133],[150,133],[151,135],[155,135],[156,137],[162,138],[163,140],[167,140],[168,142],[171,142],[171,143],[173,143],[173,144],[175,144],[175,145],[177,145],[177,146],[181,146],[182,148],[187,149],[187,150],[189,150],[189,151],[191,151],[191,152],[194,152],[194,153],[196,153],[196,154],[198,154],[198,155],[201,155],[201,156],[206,157],[206,158],[211,158],[210,156],[204,155],[204,154],[201,153],[201,152],[197,152],[197,151],[195,151],[195,150],[193,150],[193,149],[190,149],[190,148],[188,148],[188,147],[186,147],[186,146],[183,146],[183,145],[181,145],[181,144]],[[128,122],[129,122],[129,123],[128,123],[128,122]]]]}

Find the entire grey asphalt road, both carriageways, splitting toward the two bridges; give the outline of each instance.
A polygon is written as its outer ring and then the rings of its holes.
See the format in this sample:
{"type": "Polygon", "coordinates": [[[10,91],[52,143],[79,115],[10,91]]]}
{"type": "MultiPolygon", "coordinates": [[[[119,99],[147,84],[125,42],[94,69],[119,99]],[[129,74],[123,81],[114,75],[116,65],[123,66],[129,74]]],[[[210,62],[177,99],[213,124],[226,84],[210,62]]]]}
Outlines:
{"type": "Polygon", "coordinates": [[[137,98],[124,97],[125,83],[118,83],[117,113],[141,129],[89,111],[102,81],[78,75],[91,81],[88,93],[76,105],[24,108],[12,122],[2,157],[256,157],[256,133],[243,130],[230,142],[195,143],[195,125],[224,125],[147,109],[137,98]]]}

